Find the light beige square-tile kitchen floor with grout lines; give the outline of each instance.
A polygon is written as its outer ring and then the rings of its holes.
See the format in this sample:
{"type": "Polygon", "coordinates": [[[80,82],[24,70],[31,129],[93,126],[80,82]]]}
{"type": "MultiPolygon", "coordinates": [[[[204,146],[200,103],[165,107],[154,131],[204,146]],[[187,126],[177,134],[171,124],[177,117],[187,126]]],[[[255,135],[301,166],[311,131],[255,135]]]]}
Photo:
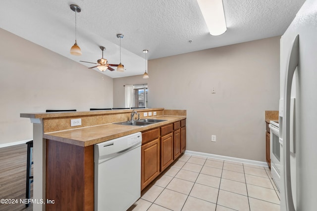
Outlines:
{"type": "Polygon", "coordinates": [[[279,211],[268,168],[182,155],[128,211],[279,211]]]}

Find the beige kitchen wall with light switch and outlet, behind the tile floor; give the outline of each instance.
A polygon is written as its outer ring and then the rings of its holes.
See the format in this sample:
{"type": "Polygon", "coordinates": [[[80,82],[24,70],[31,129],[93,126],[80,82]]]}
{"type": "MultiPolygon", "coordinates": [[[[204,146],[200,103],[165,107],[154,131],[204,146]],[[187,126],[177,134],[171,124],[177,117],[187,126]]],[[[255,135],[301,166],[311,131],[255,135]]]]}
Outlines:
{"type": "Polygon", "coordinates": [[[150,60],[150,108],[187,110],[187,150],[264,162],[264,111],[278,110],[279,39],[150,60]]]}

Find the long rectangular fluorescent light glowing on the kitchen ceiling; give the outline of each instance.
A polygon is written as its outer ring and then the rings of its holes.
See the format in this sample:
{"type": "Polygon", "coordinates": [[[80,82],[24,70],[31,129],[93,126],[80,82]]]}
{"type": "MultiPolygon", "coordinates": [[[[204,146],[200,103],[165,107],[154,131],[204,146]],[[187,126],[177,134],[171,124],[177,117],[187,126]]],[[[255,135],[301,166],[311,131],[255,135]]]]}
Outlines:
{"type": "Polygon", "coordinates": [[[212,36],[222,35],[227,31],[222,0],[197,0],[212,36]]]}

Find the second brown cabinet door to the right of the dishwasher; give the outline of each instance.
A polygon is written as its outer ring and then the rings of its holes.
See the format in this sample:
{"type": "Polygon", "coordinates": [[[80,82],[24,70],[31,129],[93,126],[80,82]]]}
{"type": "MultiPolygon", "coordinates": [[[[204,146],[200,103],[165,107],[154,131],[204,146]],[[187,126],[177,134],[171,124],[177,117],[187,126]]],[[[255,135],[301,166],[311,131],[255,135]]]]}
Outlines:
{"type": "Polygon", "coordinates": [[[160,137],[160,168],[166,169],[173,162],[173,133],[160,137]]]}

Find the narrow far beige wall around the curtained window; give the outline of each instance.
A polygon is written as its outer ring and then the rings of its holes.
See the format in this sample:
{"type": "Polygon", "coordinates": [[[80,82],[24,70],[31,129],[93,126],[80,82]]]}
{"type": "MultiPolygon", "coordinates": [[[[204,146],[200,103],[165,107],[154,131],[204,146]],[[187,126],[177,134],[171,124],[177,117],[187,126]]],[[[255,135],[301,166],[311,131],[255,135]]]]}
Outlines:
{"type": "MultiPolygon", "coordinates": [[[[143,75],[130,76],[113,79],[113,107],[124,108],[125,96],[123,85],[148,84],[148,79],[143,79],[143,75]]],[[[154,105],[155,107],[155,105],[154,105]]]]}

